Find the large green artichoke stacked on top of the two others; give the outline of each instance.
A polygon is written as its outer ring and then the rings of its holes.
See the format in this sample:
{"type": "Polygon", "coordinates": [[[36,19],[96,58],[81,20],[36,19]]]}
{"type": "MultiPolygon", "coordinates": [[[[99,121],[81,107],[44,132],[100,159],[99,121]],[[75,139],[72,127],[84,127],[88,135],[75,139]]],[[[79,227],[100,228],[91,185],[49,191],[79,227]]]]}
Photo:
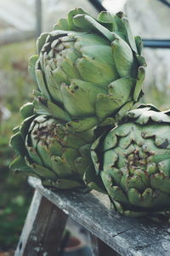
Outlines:
{"type": "Polygon", "coordinates": [[[40,90],[37,113],[63,119],[74,131],[115,123],[142,95],[141,49],[122,12],[96,20],[72,10],[37,39],[29,66],[40,90]]]}

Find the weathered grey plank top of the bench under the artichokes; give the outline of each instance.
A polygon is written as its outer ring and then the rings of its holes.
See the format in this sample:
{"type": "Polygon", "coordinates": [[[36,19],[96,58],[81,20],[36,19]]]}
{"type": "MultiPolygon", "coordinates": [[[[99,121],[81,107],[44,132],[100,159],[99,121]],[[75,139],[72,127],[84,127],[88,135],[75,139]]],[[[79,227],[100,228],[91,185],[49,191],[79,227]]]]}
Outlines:
{"type": "Polygon", "coordinates": [[[146,219],[125,218],[110,209],[106,195],[99,192],[54,193],[44,189],[37,178],[29,179],[49,201],[62,209],[100,240],[124,256],[169,256],[170,226],[153,224],[146,219]]]}

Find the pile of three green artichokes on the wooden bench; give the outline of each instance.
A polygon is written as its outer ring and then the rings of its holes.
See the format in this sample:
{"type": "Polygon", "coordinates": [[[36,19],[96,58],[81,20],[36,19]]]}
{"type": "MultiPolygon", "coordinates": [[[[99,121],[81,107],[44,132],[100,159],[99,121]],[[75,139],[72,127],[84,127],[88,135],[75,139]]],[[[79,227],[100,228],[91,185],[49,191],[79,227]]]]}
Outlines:
{"type": "Polygon", "coordinates": [[[143,95],[142,41],[122,12],[74,9],[37,39],[38,90],[20,109],[10,168],[50,189],[97,189],[129,217],[170,211],[170,111],[134,109],[143,95]]]}

